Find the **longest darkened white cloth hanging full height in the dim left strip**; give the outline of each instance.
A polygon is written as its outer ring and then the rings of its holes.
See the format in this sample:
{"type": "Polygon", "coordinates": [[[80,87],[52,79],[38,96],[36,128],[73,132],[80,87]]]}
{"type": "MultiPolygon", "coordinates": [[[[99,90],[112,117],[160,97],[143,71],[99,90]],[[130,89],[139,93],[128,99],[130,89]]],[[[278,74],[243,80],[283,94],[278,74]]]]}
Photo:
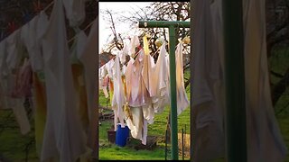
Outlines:
{"type": "MultiPolygon", "coordinates": [[[[76,161],[86,152],[84,132],[76,107],[65,17],[61,0],[55,0],[43,36],[47,118],[41,161],[56,158],[76,161]]],[[[96,67],[96,66],[95,66],[96,67]]]]}

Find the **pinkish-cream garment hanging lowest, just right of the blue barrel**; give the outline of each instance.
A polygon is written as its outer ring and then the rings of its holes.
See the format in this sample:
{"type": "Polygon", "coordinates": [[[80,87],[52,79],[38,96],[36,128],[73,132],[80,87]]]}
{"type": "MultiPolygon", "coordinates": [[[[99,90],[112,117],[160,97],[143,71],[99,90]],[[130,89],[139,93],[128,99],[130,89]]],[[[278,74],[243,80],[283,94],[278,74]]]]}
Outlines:
{"type": "Polygon", "coordinates": [[[126,67],[126,102],[128,109],[131,110],[131,116],[133,116],[133,119],[126,118],[126,123],[128,128],[133,130],[132,136],[135,136],[135,139],[141,139],[142,143],[146,144],[147,120],[144,117],[148,119],[154,118],[151,118],[148,109],[151,99],[144,84],[143,67],[144,50],[141,49],[135,60],[131,58],[126,67]]]}

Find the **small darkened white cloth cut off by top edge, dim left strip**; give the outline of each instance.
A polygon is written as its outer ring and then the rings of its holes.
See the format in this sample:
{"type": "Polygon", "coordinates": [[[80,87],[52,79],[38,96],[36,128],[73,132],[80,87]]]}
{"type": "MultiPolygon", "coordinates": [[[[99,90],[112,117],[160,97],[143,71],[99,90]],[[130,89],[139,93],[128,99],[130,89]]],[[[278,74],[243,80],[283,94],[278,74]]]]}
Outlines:
{"type": "Polygon", "coordinates": [[[71,27],[78,27],[85,20],[85,3],[88,0],[62,0],[71,27]]]}

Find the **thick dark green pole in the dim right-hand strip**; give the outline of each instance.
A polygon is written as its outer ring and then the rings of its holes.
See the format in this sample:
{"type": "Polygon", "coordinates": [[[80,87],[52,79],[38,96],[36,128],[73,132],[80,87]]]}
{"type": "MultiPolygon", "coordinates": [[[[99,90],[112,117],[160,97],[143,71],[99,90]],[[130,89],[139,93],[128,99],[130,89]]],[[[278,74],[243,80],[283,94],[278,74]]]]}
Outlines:
{"type": "Polygon", "coordinates": [[[228,162],[247,161],[247,123],[242,0],[223,0],[226,153],[228,162]]]}

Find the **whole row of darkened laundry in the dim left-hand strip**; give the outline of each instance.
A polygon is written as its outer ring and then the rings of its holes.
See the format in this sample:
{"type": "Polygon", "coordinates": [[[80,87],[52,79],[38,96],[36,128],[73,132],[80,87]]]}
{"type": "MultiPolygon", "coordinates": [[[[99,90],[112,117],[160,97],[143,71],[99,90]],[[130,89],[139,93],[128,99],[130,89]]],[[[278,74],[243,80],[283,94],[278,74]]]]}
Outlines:
{"type": "Polygon", "coordinates": [[[45,74],[47,116],[41,161],[51,159],[76,161],[88,149],[95,151],[97,146],[98,124],[95,114],[97,76],[94,69],[97,67],[95,44],[98,20],[94,21],[88,38],[83,31],[79,31],[76,39],[79,40],[76,56],[70,56],[63,5],[70,26],[79,26],[85,18],[85,1],[55,0],[50,20],[42,12],[0,42],[0,107],[13,108],[23,134],[30,130],[30,123],[23,108],[23,99],[2,98],[2,94],[11,91],[11,87],[5,83],[14,83],[13,71],[19,67],[24,57],[30,58],[33,72],[45,74]],[[86,43],[83,40],[87,40],[86,43]],[[24,49],[27,49],[28,56],[23,56],[26,53],[23,52],[24,49]],[[70,65],[72,57],[77,58],[84,67],[84,84],[89,107],[89,125],[86,128],[80,123],[75,103],[76,92],[70,65]]]}

